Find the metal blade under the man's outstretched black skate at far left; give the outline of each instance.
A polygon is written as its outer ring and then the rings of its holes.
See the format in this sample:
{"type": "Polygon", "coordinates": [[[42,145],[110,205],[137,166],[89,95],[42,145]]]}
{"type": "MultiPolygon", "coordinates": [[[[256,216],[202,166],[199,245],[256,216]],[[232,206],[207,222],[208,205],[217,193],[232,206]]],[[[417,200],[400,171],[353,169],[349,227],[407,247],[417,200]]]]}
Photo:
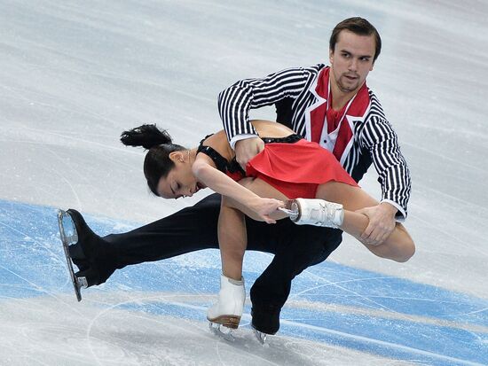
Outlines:
{"type": "Polygon", "coordinates": [[[82,300],[82,288],[88,287],[88,282],[85,276],[76,276],[73,269],[73,261],[69,256],[69,245],[78,242],[78,234],[76,232],[75,223],[73,222],[69,213],[63,210],[58,211],[59,235],[63,244],[63,250],[67,261],[67,271],[71,278],[73,288],[75,289],[76,300],[82,300]]]}

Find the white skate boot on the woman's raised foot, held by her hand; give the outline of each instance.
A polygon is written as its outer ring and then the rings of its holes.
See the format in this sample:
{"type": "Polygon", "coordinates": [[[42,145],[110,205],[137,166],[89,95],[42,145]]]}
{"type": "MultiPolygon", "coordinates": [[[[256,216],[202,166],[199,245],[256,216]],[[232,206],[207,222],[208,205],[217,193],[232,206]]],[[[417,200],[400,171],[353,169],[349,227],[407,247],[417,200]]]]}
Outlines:
{"type": "Polygon", "coordinates": [[[280,208],[297,225],[313,225],[337,229],[342,225],[342,205],[325,199],[292,199],[280,208]]]}

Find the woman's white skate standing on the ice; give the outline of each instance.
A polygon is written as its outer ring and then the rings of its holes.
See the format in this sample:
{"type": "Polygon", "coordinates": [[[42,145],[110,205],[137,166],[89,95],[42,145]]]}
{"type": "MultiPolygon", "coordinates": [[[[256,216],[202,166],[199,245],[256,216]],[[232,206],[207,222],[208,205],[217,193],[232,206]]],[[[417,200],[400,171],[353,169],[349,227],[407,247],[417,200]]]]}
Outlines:
{"type": "Polygon", "coordinates": [[[207,310],[210,330],[224,339],[233,340],[232,330],[239,326],[245,300],[244,278],[236,281],[221,275],[218,301],[207,310]]]}

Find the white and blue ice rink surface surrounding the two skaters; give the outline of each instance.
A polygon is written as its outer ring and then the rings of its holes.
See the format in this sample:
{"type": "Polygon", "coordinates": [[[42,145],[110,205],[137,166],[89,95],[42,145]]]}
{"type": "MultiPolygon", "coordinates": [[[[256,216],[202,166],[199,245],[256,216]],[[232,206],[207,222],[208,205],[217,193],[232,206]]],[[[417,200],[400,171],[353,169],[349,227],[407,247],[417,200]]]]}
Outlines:
{"type": "MultiPolygon", "coordinates": [[[[482,0],[0,0],[0,365],[488,364],[487,14],[482,0]],[[295,279],[265,347],[248,306],[236,342],[209,333],[216,251],[122,269],[77,303],[56,207],[106,234],[208,194],[155,199],[122,130],[157,122],[196,145],[222,128],[220,90],[327,63],[332,28],[357,15],[382,35],[368,85],[412,171],[413,259],[346,237],[295,279]]],[[[361,185],[379,198],[373,167],[361,185]]],[[[248,288],[270,260],[247,254],[248,288]]]]}

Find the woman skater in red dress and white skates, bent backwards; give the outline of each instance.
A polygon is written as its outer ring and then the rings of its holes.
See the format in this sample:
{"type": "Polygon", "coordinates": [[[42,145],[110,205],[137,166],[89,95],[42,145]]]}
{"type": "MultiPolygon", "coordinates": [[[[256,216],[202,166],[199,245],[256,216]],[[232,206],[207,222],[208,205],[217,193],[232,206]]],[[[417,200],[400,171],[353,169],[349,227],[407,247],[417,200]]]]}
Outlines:
{"type": "MultiPolygon", "coordinates": [[[[253,121],[264,151],[244,171],[224,131],[207,136],[198,147],[172,144],[165,130],[143,125],[122,133],[122,144],[143,146],[147,184],[164,199],[191,197],[209,187],[222,195],[218,240],[222,260],[221,289],[209,308],[211,323],[237,328],[246,293],[242,260],[247,246],[244,214],[268,223],[290,217],[296,224],[339,228],[357,238],[368,218],[355,211],[378,202],[358,187],[335,156],[271,121],[253,121]]],[[[406,261],[413,239],[401,223],[382,245],[363,243],[380,257],[406,261]],[[400,254],[403,253],[403,254],[400,254]],[[397,254],[397,255],[396,255],[397,254]]]]}

